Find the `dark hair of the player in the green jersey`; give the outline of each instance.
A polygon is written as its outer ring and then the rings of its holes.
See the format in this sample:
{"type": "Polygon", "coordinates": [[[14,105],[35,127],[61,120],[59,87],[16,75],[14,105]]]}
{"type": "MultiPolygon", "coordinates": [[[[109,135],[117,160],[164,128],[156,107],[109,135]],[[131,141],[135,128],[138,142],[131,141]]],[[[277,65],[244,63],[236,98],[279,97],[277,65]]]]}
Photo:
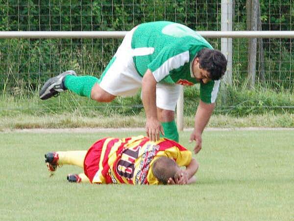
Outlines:
{"type": "Polygon", "coordinates": [[[196,57],[199,58],[199,67],[208,71],[212,80],[220,80],[227,66],[225,56],[218,50],[201,49],[196,57]]]}

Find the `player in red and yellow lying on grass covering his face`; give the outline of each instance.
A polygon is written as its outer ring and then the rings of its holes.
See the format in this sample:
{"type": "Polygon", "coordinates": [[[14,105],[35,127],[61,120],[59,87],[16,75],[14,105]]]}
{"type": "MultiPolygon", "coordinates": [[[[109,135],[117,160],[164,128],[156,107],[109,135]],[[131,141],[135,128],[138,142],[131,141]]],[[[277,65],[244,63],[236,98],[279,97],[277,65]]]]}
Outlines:
{"type": "Polygon", "coordinates": [[[45,162],[51,174],[62,165],[82,167],[84,173],[67,176],[75,183],[190,184],[198,169],[191,151],[179,143],[167,138],[153,142],[144,136],[102,138],[88,151],[49,152],[45,162]]]}

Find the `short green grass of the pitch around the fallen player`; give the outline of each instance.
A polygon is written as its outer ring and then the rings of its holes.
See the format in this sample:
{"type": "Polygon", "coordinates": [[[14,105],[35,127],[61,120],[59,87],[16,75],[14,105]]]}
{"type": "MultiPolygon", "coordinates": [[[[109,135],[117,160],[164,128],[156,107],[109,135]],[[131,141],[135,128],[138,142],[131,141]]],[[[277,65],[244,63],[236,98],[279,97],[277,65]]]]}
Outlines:
{"type": "Polygon", "coordinates": [[[49,178],[49,151],[140,133],[0,133],[0,220],[294,220],[293,130],[205,132],[189,186],[71,184],[73,166],[49,178]]]}

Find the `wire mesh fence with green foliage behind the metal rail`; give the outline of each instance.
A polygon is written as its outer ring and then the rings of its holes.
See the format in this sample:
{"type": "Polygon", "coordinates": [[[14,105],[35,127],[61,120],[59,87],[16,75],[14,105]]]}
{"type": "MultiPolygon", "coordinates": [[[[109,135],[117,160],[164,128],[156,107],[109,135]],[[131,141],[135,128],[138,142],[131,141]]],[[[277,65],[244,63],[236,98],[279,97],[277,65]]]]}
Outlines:
{"type": "MultiPolygon", "coordinates": [[[[248,0],[247,0],[248,3],[248,0]]],[[[0,0],[0,30],[130,30],[169,20],[195,30],[221,30],[221,0],[0,0]]],[[[262,30],[293,30],[293,0],[260,0],[262,30]]],[[[233,1],[233,30],[246,30],[246,0],[233,1]]],[[[220,39],[207,39],[221,49],[220,39]]],[[[73,69],[99,76],[121,39],[0,39],[0,90],[34,92],[49,77],[73,69]]],[[[292,39],[258,40],[256,83],[294,90],[292,39]]],[[[233,85],[247,85],[248,39],[233,39],[233,85]]]]}

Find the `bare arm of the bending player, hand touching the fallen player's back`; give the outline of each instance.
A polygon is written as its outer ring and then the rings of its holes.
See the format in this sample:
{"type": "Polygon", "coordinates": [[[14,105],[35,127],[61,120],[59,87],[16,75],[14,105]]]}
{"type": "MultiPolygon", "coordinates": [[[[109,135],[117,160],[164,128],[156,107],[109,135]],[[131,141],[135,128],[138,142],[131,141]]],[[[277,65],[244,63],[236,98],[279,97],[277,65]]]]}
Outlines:
{"type": "Polygon", "coordinates": [[[142,79],[142,102],[146,113],[146,134],[151,141],[159,139],[159,133],[164,135],[163,127],[157,118],[156,84],[152,72],[148,69],[142,79]]]}

